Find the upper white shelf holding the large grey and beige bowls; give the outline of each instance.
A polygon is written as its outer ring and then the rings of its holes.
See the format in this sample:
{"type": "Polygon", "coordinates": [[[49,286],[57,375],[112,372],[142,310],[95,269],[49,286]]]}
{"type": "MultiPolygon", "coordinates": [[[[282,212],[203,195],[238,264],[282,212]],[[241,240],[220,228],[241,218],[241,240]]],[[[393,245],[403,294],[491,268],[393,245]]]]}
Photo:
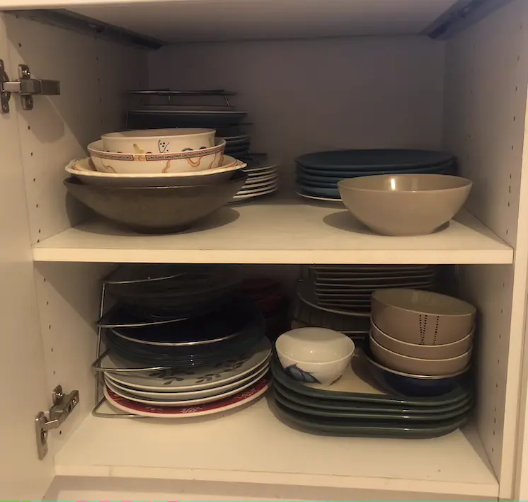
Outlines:
{"type": "Polygon", "coordinates": [[[107,263],[512,263],[513,250],[468,212],[427,236],[372,234],[343,206],[268,200],[225,207],[182,234],[139,235],[105,222],[33,247],[34,261],[107,263]]]}

